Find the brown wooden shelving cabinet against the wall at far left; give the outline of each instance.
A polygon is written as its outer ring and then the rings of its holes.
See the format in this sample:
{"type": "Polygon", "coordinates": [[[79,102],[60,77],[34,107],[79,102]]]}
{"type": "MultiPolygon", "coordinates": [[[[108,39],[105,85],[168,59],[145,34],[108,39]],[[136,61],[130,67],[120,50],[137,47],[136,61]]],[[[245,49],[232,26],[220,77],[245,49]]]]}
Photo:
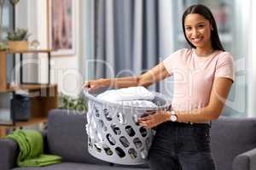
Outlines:
{"type": "MultiPolygon", "coordinates": [[[[0,125],[0,138],[5,136],[9,128],[24,127],[40,122],[47,122],[48,112],[58,107],[56,84],[19,84],[11,86],[7,78],[7,54],[49,53],[50,50],[6,51],[0,52],[0,93],[13,93],[26,90],[32,100],[31,118],[27,122],[14,122],[12,125],[0,125]]],[[[50,58],[49,58],[50,59],[50,58]]],[[[49,68],[50,69],[50,68],[49,68]]]]}

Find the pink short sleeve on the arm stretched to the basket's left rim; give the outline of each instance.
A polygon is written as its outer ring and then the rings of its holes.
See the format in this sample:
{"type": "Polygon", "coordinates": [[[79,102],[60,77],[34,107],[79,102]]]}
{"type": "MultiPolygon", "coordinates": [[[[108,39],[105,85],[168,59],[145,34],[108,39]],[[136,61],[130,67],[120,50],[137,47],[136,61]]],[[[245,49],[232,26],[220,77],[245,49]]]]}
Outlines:
{"type": "Polygon", "coordinates": [[[177,63],[177,59],[179,58],[179,56],[182,54],[182,49],[177,50],[176,52],[174,52],[173,54],[169,55],[166,59],[163,60],[163,64],[166,67],[166,70],[168,71],[168,73],[170,75],[172,75],[172,70],[173,70],[173,65],[175,65],[175,63],[177,63]]]}

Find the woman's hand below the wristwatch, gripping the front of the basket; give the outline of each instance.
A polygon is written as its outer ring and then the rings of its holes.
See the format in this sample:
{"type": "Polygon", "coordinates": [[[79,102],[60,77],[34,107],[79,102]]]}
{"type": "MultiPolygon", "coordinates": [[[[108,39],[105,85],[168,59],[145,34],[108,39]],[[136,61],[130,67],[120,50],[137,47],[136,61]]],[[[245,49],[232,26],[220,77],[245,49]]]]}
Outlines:
{"type": "Polygon", "coordinates": [[[148,113],[150,113],[148,116],[143,116],[138,119],[141,126],[152,128],[162,122],[166,122],[166,111],[156,111],[154,113],[152,113],[152,111],[148,111],[148,113]]]}

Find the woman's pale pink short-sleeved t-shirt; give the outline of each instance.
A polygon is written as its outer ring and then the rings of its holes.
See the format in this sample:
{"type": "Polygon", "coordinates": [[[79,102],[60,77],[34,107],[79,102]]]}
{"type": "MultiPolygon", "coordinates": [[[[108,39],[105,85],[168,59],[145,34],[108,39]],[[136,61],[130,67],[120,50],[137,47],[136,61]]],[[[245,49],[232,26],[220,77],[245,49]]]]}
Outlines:
{"type": "Polygon", "coordinates": [[[172,107],[177,111],[207,106],[214,77],[235,79],[232,55],[220,50],[201,57],[195,54],[195,48],[183,48],[164,59],[163,64],[174,77],[172,107]]]}

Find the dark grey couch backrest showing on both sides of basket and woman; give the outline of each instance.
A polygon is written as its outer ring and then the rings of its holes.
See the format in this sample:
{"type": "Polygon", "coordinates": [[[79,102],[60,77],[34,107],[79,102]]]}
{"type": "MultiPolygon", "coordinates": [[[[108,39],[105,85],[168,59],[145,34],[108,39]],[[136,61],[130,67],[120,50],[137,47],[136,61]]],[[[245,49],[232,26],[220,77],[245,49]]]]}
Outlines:
{"type": "MultiPolygon", "coordinates": [[[[90,156],[87,150],[86,113],[52,110],[48,118],[51,154],[61,156],[63,161],[109,164],[90,156]]],[[[220,117],[212,122],[211,138],[217,169],[231,170],[237,155],[256,147],[256,118],[220,117]]]]}

